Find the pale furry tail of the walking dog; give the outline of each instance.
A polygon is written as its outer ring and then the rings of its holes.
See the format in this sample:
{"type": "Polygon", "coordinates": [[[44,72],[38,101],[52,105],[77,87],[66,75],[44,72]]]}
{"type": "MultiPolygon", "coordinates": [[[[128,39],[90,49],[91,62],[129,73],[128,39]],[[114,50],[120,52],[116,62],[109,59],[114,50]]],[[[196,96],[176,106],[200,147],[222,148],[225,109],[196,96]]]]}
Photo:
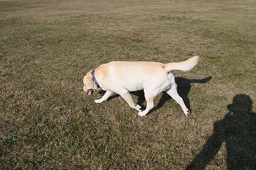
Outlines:
{"type": "Polygon", "coordinates": [[[166,72],[170,72],[172,70],[189,71],[197,65],[199,58],[199,56],[194,56],[184,62],[164,64],[163,68],[165,68],[166,72]]]}

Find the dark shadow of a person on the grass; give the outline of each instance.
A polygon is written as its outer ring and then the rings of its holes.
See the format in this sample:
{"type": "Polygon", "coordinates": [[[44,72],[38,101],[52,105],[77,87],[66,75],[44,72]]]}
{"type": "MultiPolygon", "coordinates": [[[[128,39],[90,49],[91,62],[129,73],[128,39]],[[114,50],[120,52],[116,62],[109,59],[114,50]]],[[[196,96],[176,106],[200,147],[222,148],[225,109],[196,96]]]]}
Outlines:
{"type": "Polygon", "coordinates": [[[256,169],[256,114],[252,108],[250,96],[234,96],[225,118],[215,122],[213,135],[186,169],[206,168],[223,143],[226,144],[227,169],[256,169]]]}

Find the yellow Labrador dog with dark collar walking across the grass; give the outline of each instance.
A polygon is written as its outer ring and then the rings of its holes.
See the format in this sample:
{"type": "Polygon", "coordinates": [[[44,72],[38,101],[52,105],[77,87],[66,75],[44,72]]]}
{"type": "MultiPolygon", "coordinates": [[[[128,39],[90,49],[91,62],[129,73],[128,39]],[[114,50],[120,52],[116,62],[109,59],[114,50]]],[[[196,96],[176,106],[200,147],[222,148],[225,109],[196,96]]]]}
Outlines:
{"type": "Polygon", "coordinates": [[[130,107],[138,110],[138,115],[144,116],[154,107],[154,98],[161,92],[167,92],[180,104],[186,115],[190,114],[182,97],[177,93],[175,77],[170,71],[189,71],[199,60],[194,56],[184,62],[162,64],[157,62],[110,62],[102,64],[95,70],[89,71],[83,78],[83,91],[92,95],[95,89],[102,88],[106,93],[101,99],[94,100],[102,103],[112,95],[118,93],[130,107]],[[144,89],[147,107],[141,110],[133,102],[129,92],[144,89]]]}

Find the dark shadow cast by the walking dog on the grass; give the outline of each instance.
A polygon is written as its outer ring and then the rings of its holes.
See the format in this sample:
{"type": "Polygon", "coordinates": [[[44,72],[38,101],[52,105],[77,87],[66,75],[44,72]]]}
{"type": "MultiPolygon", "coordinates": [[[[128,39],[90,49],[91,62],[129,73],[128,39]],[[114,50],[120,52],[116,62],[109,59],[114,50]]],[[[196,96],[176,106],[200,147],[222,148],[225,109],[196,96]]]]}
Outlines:
{"type": "MultiPolygon", "coordinates": [[[[188,95],[189,95],[189,92],[191,89],[191,84],[193,84],[193,83],[204,84],[211,79],[212,79],[211,76],[204,78],[204,79],[187,79],[187,78],[183,78],[183,77],[175,78],[175,82],[177,84],[177,92],[180,95],[180,97],[182,97],[187,108],[190,108],[190,100],[189,100],[188,95]]],[[[104,95],[105,91],[100,91],[99,93],[104,95]]],[[[138,97],[137,104],[140,105],[141,107],[145,108],[145,106],[143,105],[143,103],[145,102],[144,92],[136,91],[136,92],[130,92],[130,93],[133,95],[136,95],[138,97]]],[[[108,100],[114,99],[115,97],[118,97],[118,96],[120,96],[120,95],[118,95],[118,94],[112,95],[111,97],[108,98],[108,100]]],[[[163,104],[169,99],[172,99],[172,97],[170,97],[166,92],[163,92],[163,95],[162,95],[161,99],[159,100],[158,104],[154,108],[152,108],[148,114],[152,113],[155,110],[158,110],[158,108],[161,108],[163,106],[163,104]]]]}

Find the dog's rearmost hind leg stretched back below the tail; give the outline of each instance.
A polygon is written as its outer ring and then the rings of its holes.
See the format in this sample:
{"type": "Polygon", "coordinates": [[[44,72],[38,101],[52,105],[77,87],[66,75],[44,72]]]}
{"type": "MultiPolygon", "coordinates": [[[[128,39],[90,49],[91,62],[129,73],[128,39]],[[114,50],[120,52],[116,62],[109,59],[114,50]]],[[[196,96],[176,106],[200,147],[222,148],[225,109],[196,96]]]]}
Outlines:
{"type": "Polygon", "coordinates": [[[177,103],[180,104],[180,106],[182,107],[182,110],[184,111],[184,114],[186,115],[190,114],[190,111],[184,104],[182,97],[180,97],[179,94],[177,93],[176,84],[172,84],[170,89],[166,92],[168,93],[168,95],[170,95],[170,97],[172,97],[177,103]]]}

